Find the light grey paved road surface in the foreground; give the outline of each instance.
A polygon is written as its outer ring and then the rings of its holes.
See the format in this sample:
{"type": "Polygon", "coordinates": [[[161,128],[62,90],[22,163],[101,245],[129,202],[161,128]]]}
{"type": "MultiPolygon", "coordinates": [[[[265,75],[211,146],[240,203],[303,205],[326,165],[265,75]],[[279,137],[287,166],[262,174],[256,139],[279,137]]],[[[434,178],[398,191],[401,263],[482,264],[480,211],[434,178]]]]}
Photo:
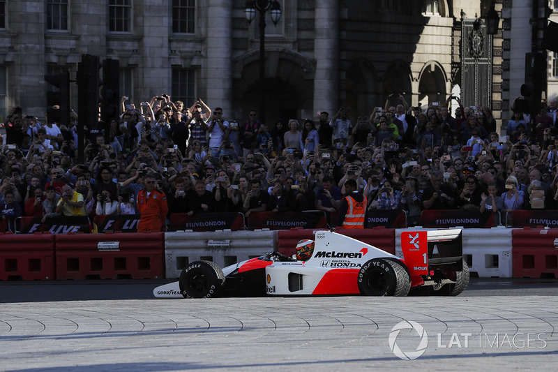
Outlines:
{"type": "Polygon", "coordinates": [[[557,329],[555,296],[14,302],[0,370],[552,371],[557,329]]]}

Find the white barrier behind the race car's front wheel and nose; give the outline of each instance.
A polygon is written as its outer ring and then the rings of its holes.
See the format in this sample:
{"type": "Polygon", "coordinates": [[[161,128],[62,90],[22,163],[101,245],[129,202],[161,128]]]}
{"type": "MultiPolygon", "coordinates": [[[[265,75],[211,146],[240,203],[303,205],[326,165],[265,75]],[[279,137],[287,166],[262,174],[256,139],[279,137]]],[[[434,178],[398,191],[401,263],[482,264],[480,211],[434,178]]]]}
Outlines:
{"type": "Polygon", "coordinates": [[[179,278],[189,262],[213,261],[220,267],[276,251],[277,231],[165,232],[167,279],[179,278]]]}

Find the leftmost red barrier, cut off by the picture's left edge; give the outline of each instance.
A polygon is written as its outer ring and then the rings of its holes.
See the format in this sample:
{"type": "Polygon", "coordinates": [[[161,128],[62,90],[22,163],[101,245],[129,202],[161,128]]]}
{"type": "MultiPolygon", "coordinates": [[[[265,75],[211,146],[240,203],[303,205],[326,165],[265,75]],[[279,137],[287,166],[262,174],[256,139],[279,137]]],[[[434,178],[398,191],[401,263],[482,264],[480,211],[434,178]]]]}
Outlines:
{"type": "Polygon", "coordinates": [[[54,235],[0,234],[0,280],[53,281],[54,235]]]}

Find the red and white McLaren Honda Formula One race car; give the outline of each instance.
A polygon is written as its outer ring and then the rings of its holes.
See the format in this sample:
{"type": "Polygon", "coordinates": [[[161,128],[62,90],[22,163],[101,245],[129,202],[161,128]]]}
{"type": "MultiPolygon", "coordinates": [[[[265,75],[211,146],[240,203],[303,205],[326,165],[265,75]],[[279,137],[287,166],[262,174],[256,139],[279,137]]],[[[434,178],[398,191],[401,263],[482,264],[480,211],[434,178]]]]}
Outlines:
{"type": "Polygon", "coordinates": [[[413,290],[457,296],[469,283],[460,229],[402,232],[404,259],[330,231],[317,231],[315,241],[301,242],[299,260],[273,252],[224,269],[210,261],[192,262],[179,282],[153,294],[407,296],[413,290]]]}

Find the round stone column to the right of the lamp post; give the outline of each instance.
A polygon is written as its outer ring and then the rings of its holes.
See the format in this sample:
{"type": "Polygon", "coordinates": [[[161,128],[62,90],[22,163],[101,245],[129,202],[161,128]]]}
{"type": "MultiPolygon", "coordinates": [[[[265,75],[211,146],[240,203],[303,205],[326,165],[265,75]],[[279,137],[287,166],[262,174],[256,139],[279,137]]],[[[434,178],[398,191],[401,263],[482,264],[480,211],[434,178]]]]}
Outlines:
{"type": "Polygon", "coordinates": [[[338,110],[339,97],[339,0],[316,1],[314,58],[314,114],[338,110]]]}

